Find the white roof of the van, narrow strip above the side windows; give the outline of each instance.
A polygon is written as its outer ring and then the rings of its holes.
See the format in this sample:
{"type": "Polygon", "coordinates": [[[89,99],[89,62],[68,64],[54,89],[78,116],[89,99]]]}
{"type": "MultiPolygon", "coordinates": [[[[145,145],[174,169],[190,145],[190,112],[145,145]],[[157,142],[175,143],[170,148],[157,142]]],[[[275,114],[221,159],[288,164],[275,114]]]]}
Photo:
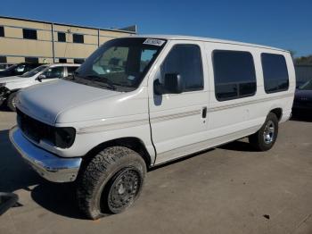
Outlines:
{"type": "Polygon", "coordinates": [[[222,39],[216,39],[216,38],[201,38],[201,37],[183,36],[183,35],[133,35],[130,37],[131,38],[158,38],[158,39],[167,39],[167,40],[207,41],[207,42],[213,42],[213,43],[223,43],[223,44],[232,44],[232,45],[239,45],[239,46],[251,46],[251,47],[266,48],[266,49],[290,53],[287,50],[272,47],[272,46],[262,46],[262,45],[257,45],[257,44],[243,43],[243,42],[232,41],[232,40],[222,40],[222,39]]]}

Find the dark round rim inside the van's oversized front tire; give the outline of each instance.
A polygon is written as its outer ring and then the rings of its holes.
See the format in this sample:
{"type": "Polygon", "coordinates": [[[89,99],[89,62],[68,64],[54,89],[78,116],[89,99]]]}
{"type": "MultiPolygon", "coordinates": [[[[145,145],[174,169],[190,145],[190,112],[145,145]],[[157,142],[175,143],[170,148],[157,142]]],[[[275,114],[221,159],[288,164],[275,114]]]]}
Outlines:
{"type": "Polygon", "coordinates": [[[140,188],[141,177],[138,171],[127,169],[122,171],[113,181],[109,192],[109,208],[111,212],[118,213],[132,205],[140,188]]]}

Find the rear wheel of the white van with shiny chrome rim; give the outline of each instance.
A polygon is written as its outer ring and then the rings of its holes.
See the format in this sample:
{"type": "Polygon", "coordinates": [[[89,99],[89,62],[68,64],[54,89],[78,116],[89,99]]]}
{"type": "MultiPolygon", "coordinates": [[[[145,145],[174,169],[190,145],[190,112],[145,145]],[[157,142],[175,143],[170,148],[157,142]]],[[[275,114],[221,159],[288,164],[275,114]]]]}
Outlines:
{"type": "Polygon", "coordinates": [[[261,129],[249,137],[250,143],[259,151],[271,149],[278,134],[278,119],[275,113],[269,113],[261,129]]]}

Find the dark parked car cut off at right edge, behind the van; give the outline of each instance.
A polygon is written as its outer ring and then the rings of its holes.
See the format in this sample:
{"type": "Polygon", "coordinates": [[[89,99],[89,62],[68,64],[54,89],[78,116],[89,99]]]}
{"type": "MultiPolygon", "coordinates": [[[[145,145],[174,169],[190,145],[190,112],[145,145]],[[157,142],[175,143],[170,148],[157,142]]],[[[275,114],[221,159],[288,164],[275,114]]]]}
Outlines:
{"type": "Polygon", "coordinates": [[[300,111],[312,113],[312,79],[296,89],[292,111],[293,113],[300,111]]]}

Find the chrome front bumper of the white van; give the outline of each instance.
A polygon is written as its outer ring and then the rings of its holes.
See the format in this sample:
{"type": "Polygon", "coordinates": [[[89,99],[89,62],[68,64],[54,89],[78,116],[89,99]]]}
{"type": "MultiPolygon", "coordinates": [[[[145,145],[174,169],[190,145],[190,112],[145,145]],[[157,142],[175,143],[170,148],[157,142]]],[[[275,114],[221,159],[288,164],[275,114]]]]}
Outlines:
{"type": "Polygon", "coordinates": [[[22,158],[43,178],[53,182],[70,182],[77,178],[82,159],[61,158],[41,149],[25,138],[18,127],[10,130],[12,145],[22,158]]]}

